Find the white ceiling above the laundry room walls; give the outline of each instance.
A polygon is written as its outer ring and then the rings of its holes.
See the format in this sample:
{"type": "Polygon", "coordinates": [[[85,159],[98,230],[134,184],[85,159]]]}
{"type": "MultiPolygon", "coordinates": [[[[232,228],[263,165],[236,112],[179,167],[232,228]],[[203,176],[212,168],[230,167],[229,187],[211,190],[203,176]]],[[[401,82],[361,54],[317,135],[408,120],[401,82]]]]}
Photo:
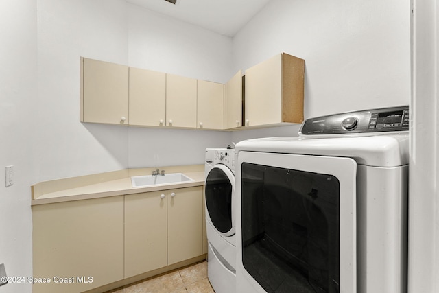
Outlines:
{"type": "Polygon", "coordinates": [[[206,30],[233,37],[270,0],[126,0],[206,30]]]}

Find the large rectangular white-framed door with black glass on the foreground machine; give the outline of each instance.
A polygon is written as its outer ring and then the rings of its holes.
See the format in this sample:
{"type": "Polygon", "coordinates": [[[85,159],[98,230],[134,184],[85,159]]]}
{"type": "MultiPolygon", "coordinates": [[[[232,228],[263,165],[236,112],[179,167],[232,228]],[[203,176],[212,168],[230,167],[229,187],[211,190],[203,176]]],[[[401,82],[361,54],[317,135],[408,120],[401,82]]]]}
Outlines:
{"type": "Polygon", "coordinates": [[[265,152],[237,163],[237,292],[357,292],[357,163],[265,152]]]}

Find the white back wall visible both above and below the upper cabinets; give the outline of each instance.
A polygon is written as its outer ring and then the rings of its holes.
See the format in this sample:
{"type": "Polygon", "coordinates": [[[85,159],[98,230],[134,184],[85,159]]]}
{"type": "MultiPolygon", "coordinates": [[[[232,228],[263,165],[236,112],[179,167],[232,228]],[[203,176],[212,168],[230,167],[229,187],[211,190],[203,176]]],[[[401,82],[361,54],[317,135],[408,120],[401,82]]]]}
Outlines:
{"type": "MultiPolygon", "coordinates": [[[[222,83],[233,76],[231,38],[136,5],[129,5],[128,14],[128,65],[222,83]]],[[[130,168],[204,164],[206,148],[230,144],[229,132],[159,128],[128,131],[130,168]]]]}

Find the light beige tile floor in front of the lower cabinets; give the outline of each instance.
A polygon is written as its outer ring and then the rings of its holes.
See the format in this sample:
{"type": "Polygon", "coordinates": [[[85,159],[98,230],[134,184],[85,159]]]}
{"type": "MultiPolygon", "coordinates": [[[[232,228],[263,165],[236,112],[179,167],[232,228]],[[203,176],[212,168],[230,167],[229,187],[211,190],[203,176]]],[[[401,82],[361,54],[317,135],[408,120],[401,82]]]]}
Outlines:
{"type": "Polygon", "coordinates": [[[207,262],[174,270],[106,293],[215,293],[207,279],[207,262]]]}

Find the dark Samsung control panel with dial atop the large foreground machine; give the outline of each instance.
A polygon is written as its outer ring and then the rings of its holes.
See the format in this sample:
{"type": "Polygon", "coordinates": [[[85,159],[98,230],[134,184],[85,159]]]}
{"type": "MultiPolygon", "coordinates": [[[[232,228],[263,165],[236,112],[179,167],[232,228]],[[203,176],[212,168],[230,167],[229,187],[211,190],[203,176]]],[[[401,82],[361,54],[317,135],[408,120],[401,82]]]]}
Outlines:
{"type": "Polygon", "coordinates": [[[409,130],[409,106],[321,116],[303,121],[299,135],[409,130]]]}

